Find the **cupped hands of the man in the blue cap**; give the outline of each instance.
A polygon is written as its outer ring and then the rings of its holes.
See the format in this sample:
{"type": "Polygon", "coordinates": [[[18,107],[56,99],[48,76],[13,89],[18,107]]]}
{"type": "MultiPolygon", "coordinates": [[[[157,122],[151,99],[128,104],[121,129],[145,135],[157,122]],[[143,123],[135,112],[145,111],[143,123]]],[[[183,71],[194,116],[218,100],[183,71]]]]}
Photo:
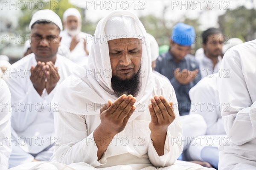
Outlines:
{"type": "Polygon", "coordinates": [[[189,71],[185,68],[182,71],[180,71],[180,68],[177,68],[174,71],[175,79],[177,80],[177,82],[179,82],[182,85],[186,85],[192,82],[197,77],[197,74],[198,74],[198,69],[189,71]]]}

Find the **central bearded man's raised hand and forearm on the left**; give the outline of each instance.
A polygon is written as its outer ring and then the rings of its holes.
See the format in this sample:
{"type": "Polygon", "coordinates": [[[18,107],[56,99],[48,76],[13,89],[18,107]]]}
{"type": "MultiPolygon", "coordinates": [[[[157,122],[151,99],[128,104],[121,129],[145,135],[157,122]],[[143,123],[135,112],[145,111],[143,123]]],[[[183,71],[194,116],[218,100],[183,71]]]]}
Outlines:
{"type": "Polygon", "coordinates": [[[115,102],[108,101],[100,110],[100,125],[94,130],[93,138],[98,147],[98,161],[117,133],[124,130],[130,116],[135,111],[136,98],[132,95],[120,96],[115,102]]]}

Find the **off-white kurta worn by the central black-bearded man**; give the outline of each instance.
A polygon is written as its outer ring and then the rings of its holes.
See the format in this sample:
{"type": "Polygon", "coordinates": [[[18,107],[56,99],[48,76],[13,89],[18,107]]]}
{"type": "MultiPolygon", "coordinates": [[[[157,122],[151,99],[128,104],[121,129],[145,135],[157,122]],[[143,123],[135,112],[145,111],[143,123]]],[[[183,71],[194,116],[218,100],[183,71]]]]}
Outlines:
{"type": "MultiPolygon", "coordinates": [[[[154,76],[155,86],[151,92],[151,97],[154,95],[163,95],[168,99],[171,96],[169,102],[177,103],[172,85],[163,78],[155,74],[154,76]],[[164,85],[166,88],[158,88],[158,85],[164,85]]],[[[66,79],[61,85],[61,88],[66,89],[65,86],[68,87],[72,82],[77,84],[77,93],[83,92],[79,89],[83,87],[85,82],[82,79],[78,80],[74,77],[66,79]]],[[[137,105],[137,109],[140,109],[142,112],[141,115],[133,121],[128,122],[125,129],[114,137],[99,161],[97,161],[98,149],[93,139],[93,131],[101,122],[99,114],[77,115],[61,110],[59,113],[56,112],[55,131],[59,138],[58,146],[55,146],[56,161],[64,164],[85,162],[93,167],[140,164],[140,169],[151,164],[156,167],[167,167],[174,164],[183,149],[182,144],[180,144],[182,128],[179,115],[176,114],[175,121],[169,126],[164,155],[158,156],[150,139],[150,130],[148,127],[151,121],[148,111],[149,104],[150,98],[148,98],[148,103],[137,105]]],[[[86,109],[87,107],[84,105],[84,110],[86,109]]],[[[177,108],[174,111],[178,113],[177,108]]]]}

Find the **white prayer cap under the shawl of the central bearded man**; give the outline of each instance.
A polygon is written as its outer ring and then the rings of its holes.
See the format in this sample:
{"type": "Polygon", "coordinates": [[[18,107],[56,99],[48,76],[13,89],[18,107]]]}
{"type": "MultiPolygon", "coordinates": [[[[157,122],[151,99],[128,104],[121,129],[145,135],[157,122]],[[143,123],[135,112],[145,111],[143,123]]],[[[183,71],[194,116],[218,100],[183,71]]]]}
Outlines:
{"type": "Polygon", "coordinates": [[[135,19],[131,16],[119,15],[110,17],[105,25],[104,31],[107,41],[119,38],[139,38],[143,39],[135,27],[135,19]]]}

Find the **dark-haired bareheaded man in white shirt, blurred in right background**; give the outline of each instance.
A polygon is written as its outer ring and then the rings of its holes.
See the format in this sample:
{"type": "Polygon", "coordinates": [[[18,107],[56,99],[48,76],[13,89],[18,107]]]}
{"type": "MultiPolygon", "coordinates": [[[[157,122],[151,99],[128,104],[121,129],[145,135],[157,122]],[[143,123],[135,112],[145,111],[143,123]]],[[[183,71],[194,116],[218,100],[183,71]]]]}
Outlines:
{"type": "Polygon", "coordinates": [[[217,73],[221,65],[224,36],[220,29],[209,28],[202,33],[204,53],[197,56],[202,78],[217,73]]]}

